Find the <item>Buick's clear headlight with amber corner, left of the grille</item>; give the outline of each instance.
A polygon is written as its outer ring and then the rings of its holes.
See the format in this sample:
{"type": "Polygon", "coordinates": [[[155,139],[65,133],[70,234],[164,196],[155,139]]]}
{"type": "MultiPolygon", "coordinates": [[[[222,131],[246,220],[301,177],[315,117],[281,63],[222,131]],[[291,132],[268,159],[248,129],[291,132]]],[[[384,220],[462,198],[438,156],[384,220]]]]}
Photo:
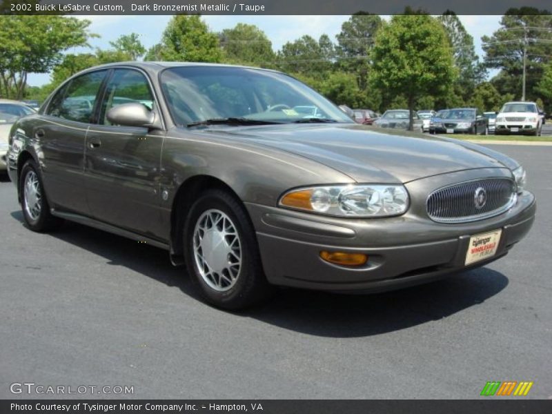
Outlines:
{"type": "Polygon", "coordinates": [[[400,185],[320,186],[288,191],[279,205],[324,215],[387,217],[408,209],[408,193],[400,185]]]}

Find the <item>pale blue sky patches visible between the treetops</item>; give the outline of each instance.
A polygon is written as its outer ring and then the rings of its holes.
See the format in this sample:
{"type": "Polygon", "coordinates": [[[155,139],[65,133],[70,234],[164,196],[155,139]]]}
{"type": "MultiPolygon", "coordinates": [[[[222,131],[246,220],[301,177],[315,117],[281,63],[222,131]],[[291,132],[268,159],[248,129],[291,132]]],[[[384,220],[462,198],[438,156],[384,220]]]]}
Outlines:
{"type": "MultiPolygon", "coordinates": [[[[99,39],[90,39],[90,46],[95,48],[109,48],[109,42],[117,39],[121,34],[137,32],[140,41],[146,48],[159,43],[161,33],[172,16],[86,16],[79,17],[92,21],[90,32],[100,35],[99,39]]],[[[232,28],[237,23],[255,24],[264,30],[268,39],[273,43],[273,49],[279,48],[288,41],[294,41],[304,34],[318,39],[322,34],[335,41],[335,35],[341,30],[341,25],[350,16],[203,16],[210,30],[219,32],[232,28]]],[[[502,16],[459,16],[467,32],[473,36],[475,52],[482,57],[481,37],[491,35],[500,27],[502,16]]],[[[84,48],[73,48],[69,53],[86,52],[84,48]]],[[[493,75],[491,73],[491,75],[493,75]]],[[[41,86],[50,81],[49,74],[30,74],[30,86],[41,86]]]]}

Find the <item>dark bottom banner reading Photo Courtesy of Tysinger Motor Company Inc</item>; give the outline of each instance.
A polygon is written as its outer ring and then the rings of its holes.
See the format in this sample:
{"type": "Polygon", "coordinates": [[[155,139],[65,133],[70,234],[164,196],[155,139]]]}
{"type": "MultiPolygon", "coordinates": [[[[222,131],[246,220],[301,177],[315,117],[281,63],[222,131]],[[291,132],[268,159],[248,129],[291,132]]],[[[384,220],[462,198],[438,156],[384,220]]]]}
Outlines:
{"type": "Polygon", "coordinates": [[[551,413],[552,400],[1,400],[14,414],[380,414],[551,413]]]}

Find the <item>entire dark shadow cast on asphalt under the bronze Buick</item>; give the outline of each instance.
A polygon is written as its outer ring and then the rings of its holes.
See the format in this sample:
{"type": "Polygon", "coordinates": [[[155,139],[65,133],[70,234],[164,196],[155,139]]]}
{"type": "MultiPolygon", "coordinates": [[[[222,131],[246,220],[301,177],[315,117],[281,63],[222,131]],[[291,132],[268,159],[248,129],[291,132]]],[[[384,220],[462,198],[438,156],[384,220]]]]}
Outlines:
{"type": "MultiPolygon", "coordinates": [[[[11,215],[23,222],[21,211],[11,215]]],[[[70,222],[50,235],[100,255],[108,264],[126,266],[201,300],[185,268],[173,267],[165,250],[70,222]]],[[[508,282],[502,273],[484,267],[431,284],[371,295],[286,288],[277,290],[266,304],[234,314],[307,335],[364,337],[449,317],[482,304],[508,282]]]]}

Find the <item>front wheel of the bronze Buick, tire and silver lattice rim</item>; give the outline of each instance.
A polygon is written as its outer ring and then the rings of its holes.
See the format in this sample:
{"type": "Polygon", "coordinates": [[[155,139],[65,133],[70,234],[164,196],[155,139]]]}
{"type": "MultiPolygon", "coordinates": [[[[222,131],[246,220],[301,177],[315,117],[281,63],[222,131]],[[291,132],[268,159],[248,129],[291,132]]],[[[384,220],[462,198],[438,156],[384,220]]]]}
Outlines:
{"type": "Polygon", "coordinates": [[[209,304],[239,310],[270,295],[255,230],[233,195],[218,189],[202,193],[186,217],[183,240],[188,274],[209,304]],[[203,251],[213,245],[218,251],[203,251]]]}

